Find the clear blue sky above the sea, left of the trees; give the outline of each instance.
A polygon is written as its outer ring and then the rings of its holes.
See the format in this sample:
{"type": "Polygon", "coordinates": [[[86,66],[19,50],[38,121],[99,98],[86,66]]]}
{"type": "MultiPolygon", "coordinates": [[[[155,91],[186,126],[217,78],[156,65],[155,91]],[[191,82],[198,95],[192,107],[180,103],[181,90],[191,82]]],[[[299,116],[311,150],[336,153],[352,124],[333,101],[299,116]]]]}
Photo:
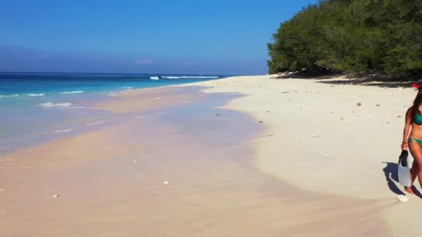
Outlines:
{"type": "Polygon", "coordinates": [[[0,1],[0,71],[267,73],[280,22],[316,0],[0,1]]]}

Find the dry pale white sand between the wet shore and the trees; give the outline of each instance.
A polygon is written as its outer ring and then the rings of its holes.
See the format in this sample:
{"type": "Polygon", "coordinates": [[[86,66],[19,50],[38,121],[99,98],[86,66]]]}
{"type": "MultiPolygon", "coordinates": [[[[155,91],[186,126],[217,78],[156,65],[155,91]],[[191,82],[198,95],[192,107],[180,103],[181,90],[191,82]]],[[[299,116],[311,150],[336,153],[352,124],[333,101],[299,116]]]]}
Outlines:
{"type": "MultiPolygon", "coordinates": [[[[268,76],[233,77],[196,85],[213,87],[205,89],[209,93],[246,95],[231,100],[224,108],[246,112],[257,123],[263,121],[266,129],[262,136],[272,134],[256,147],[255,164],[265,173],[305,190],[380,203],[397,200],[398,194],[391,188],[403,190],[400,184],[386,179],[390,171],[385,172],[384,162],[395,168],[405,111],[412,105],[415,89],[268,76]]],[[[419,184],[414,185],[419,188],[419,184]]],[[[416,227],[422,200],[397,200],[383,212],[396,236],[419,236],[416,227]]]]}

